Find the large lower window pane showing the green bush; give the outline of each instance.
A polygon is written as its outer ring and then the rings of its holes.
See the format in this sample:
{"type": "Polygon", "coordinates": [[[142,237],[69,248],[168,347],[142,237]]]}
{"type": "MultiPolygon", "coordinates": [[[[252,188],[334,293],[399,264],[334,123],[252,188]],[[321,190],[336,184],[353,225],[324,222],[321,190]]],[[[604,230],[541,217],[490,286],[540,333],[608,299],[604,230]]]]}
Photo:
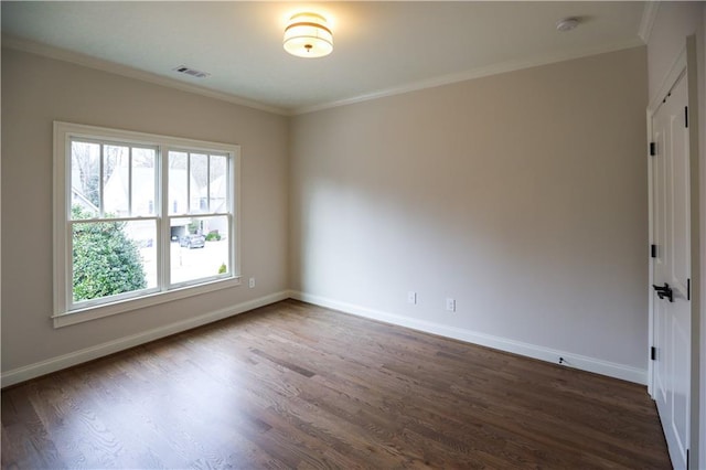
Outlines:
{"type": "Polygon", "coordinates": [[[72,229],[74,302],[157,286],[157,222],[77,222],[72,229]]]}

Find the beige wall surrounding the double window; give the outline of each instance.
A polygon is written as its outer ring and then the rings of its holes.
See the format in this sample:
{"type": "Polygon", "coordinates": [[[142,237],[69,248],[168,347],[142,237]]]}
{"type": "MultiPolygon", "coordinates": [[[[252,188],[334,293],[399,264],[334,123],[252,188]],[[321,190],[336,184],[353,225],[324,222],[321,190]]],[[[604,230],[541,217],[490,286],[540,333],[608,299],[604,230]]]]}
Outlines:
{"type": "Polygon", "coordinates": [[[2,371],[119,341],[288,288],[288,119],[162,86],[2,51],[2,371]],[[242,273],[222,290],[54,329],[52,121],[242,146],[242,273]]]}

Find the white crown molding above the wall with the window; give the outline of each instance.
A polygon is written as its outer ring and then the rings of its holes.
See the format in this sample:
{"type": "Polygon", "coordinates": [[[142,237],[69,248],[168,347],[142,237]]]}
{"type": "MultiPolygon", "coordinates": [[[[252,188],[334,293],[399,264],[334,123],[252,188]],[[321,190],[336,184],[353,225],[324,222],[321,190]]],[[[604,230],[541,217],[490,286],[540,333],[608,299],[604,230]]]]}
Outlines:
{"type": "Polygon", "coordinates": [[[289,116],[291,114],[288,109],[264,105],[261,103],[253,102],[246,98],[242,98],[239,96],[235,96],[235,95],[231,95],[222,92],[215,92],[213,89],[204,88],[197,85],[192,85],[174,78],[163,77],[150,72],[145,72],[138,68],[120,65],[115,62],[104,61],[103,58],[92,57],[89,55],[79,54],[76,52],[67,51],[65,49],[55,47],[52,45],[39,43],[35,41],[29,41],[25,39],[11,36],[8,34],[2,34],[2,47],[28,52],[30,54],[42,55],[49,58],[68,62],[72,64],[82,65],[84,67],[89,67],[89,68],[98,70],[101,72],[108,72],[108,73],[121,75],[129,78],[136,78],[142,82],[167,86],[170,88],[180,89],[182,92],[193,93],[196,95],[206,96],[208,98],[232,103],[234,105],[246,106],[248,108],[272,113],[276,115],[289,116]]]}

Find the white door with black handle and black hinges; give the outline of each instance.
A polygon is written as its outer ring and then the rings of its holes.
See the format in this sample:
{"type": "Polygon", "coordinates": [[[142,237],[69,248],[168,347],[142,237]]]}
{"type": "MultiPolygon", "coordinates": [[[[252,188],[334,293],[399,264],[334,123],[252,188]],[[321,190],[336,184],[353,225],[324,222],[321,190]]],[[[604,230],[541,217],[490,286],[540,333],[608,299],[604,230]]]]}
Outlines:
{"type": "Polygon", "coordinates": [[[686,75],[652,117],[653,394],[675,469],[689,442],[691,245],[686,75]]]}

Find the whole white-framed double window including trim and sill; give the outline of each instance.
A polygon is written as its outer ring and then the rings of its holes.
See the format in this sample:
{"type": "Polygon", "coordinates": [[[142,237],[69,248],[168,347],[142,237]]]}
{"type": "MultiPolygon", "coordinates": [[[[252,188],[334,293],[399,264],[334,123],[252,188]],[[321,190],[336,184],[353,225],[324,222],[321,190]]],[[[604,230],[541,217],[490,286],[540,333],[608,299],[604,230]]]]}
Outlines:
{"type": "Polygon", "coordinates": [[[54,324],[239,285],[239,147],[54,124],[54,324]]]}

